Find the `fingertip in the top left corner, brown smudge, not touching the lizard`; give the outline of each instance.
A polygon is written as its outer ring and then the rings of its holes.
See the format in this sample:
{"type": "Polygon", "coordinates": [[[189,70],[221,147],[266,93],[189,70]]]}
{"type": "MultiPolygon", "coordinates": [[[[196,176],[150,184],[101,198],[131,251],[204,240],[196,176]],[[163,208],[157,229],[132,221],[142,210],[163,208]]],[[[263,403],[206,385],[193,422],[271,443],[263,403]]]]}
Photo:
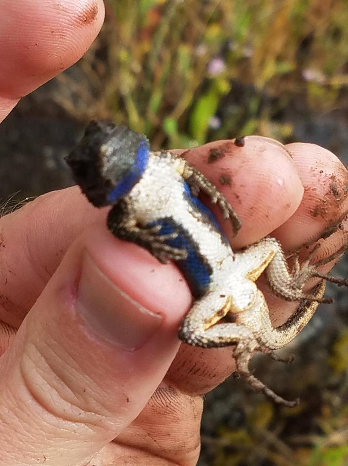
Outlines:
{"type": "Polygon", "coordinates": [[[4,0],[0,95],[16,100],[70,67],[104,21],[102,0],[4,0]]]}

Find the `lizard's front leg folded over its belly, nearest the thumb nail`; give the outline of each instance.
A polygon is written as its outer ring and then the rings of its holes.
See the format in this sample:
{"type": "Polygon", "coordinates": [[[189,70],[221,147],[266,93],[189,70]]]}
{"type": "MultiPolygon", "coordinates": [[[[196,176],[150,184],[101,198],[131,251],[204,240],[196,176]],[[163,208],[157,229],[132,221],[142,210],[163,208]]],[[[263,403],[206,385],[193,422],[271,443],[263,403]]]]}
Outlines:
{"type": "Polygon", "coordinates": [[[161,234],[161,225],[157,224],[139,225],[131,207],[124,199],[119,200],[110,210],[107,216],[107,227],[118,238],[147,249],[162,264],[167,264],[170,260],[185,260],[188,256],[187,250],[168,244],[178,236],[178,233],[173,231],[161,234]]]}

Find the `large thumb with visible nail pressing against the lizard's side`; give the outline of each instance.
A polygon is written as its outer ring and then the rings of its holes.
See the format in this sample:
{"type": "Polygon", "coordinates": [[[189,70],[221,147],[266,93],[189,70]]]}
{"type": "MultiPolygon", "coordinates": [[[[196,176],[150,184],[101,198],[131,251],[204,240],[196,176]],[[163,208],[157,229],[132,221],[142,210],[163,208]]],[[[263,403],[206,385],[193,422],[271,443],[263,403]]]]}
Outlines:
{"type": "Polygon", "coordinates": [[[104,227],[81,235],[0,358],[0,465],[85,464],[132,422],[178,350],[185,287],[104,227]]]}

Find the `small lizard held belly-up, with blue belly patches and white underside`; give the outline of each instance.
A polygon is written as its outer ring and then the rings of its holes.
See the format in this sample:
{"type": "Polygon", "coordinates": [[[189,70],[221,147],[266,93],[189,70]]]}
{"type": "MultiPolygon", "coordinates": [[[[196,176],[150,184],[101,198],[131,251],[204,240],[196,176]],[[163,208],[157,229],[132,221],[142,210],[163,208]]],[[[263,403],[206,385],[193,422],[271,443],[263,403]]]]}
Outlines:
{"type": "MultiPolygon", "coordinates": [[[[254,377],[249,361],[260,351],[280,360],[284,347],[303,329],[323,298],[321,281],[311,294],[311,277],[331,280],[317,267],[346,247],[311,265],[313,253],[289,270],[278,241],[266,237],[233,252],[215,216],[199,199],[203,191],[232,223],[240,222],[226,198],[194,167],[170,151],[153,152],[145,136],[124,126],[92,122],[67,157],[76,182],[97,207],[112,205],[107,226],[119,238],[149,250],[162,263],[174,260],[190,286],[194,302],[179,338],[204,348],[234,345],[238,372],[273,400],[294,406],[254,377]],[[262,272],[274,294],[297,301],[296,312],[280,327],[271,324],[267,303],[255,281],[262,272]]],[[[335,279],[336,283],[347,284],[335,279]]]]}

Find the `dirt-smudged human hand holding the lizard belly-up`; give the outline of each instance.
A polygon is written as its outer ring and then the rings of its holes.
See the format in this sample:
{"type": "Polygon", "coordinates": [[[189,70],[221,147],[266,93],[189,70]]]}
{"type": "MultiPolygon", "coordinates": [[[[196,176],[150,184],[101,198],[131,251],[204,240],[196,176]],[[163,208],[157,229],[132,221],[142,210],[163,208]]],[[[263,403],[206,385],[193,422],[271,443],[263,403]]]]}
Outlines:
{"type": "MultiPolygon", "coordinates": [[[[28,2],[18,3],[17,14],[29,17],[28,2]]],[[[31,1],[36,3],[42,2],[31,1]]],[[[102,5],[96,3],[94,23],[77,28],[73,3],[66,3],[70,13],[64,13],[64,24],[70,18],[70,40],[80,44],[81,54],[101,24],[102,5]],[[76,31],[85,34],[80,42],[76,31]]],[[[81,1],[77,4],[82,8],[81,1]]],[[[13,5],[4,2],[5,8],[13,5]]],[[[57,20],[47,16],[48,30],[50,21],[58,28],[57,20]]],[[[45,43],[52,50],[52,43],[45,43]]],[[[6,68],[0,73],[2,116],[15,105],[15,96],[78,55],[71,57],[63,47],[56,66],[45,68],[41,47],[38,55],[32,52],[28,71],[23,67],[17,73],[23,57],[7,66],[17,48],[7,50],[11,55],[0,61],[6,68]],[[6,73],[8,82],[16,77],[16,86],[6,87],[6,73]]],[[[260,137],[246,141],[244,148],[220,141],[186,154],[241,217],[235,247],[271,233],[285,249],[297,249],[345,216],[347,172],[330,152],[302,144],[284,149],[260,137]],[[225,156],[207,165],[211,149],[225,156]]],[[[0,465],[189,466],[197,461],[201,394],[234,370],[232,350],[180,347],[177,328],[191,304],[186,283],[175,266],[163,266],[114,238],[105,217],[105,210],[94,209],[77,188],[69,188],[0,220],[0,465]]],[[[338,230],[317,255],[328,256],[346,241],[347,233],[338,230]]],[[[275,302],[274,321],[293,308],[275,302]]]]}

